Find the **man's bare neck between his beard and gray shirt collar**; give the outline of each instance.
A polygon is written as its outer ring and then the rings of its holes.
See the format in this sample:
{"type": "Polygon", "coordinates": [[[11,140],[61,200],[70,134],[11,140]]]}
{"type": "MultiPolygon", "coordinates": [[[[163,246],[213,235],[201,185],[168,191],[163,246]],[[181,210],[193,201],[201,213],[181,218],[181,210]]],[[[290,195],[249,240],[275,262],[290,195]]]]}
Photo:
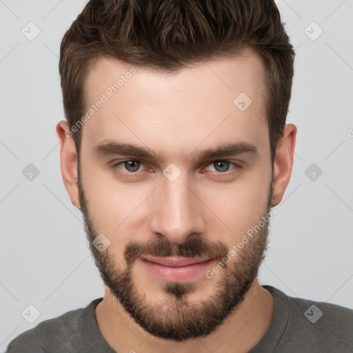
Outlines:
{"type": "Polygon", "coordinates": [[[272,294],[259,285],[257,279],[241,305],[228,316],[217,330],[206,337],[175,342],[145,332],[125,312],[119,301],[105,288],[103,301],[95,315],[105,341],[117,352],[146,353],[213,353],[249,352],[265,335],[274,313],[272,294]]]}

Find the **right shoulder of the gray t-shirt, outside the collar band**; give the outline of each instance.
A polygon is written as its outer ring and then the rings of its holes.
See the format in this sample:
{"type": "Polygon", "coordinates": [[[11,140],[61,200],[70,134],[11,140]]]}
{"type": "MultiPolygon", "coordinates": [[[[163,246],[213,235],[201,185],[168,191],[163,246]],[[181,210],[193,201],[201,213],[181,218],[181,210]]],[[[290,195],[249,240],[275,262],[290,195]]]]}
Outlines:
{"type": "Polygon", "coordinates": [[[352,309],[323,301],[287,298],[288,323],[279,352],[353,352],[352,309]]]}

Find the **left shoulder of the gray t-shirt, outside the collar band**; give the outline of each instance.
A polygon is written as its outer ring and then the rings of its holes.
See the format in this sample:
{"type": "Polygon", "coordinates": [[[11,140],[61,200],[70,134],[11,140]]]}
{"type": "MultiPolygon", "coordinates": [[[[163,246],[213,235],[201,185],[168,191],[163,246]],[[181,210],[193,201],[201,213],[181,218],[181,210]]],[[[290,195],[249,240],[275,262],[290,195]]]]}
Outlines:
{"type": "Polygon", "coordinates": [[[71,338],[79,333],[79,317],[84,310],[65,312],[22,332],[9,343],[6,353],[74,352],[71,338]]]}

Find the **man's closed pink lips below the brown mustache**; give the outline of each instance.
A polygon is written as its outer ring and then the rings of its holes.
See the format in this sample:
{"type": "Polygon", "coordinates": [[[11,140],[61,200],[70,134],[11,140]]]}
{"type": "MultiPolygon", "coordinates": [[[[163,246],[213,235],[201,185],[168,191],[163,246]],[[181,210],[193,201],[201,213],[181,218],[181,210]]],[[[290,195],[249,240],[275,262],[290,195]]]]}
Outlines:
{"type": "Polygon", "coordinates": [[[188,281],[204,274],[214,259],[140,256],[139,262],[143,268],[159,279],[178,282],[188,281]]]}

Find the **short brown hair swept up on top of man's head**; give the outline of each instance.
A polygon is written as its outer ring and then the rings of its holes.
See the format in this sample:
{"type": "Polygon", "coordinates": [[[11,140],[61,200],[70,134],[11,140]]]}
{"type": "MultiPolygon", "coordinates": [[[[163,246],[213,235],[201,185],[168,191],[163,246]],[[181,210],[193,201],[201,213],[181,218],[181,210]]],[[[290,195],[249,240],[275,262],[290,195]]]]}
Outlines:
{"type": "MultiPolygon", "coordinates": [[[[61,41],[59,72],[70,129],[84,114],[85,78],[101,57],[173,72],[245,46],[265,64],[272,163],[288,114],[294,50],[274,0],[90,0],[61,41]]],[[[79,153],[81,129],[72,134],[79,153]]]]}

